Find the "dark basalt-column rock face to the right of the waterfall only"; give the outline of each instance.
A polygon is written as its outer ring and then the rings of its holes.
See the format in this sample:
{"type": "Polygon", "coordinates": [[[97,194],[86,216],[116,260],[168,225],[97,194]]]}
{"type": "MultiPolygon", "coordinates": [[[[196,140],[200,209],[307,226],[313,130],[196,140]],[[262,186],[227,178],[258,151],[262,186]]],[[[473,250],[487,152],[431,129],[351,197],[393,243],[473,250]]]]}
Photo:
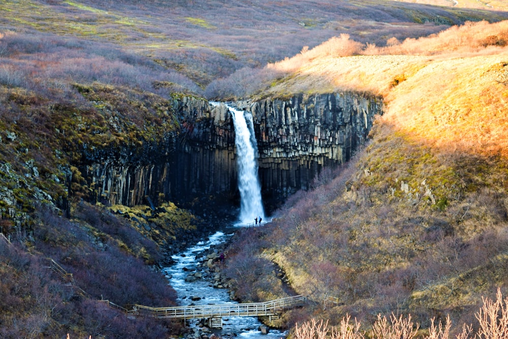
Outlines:
{"type": "Polygon", "coordinates": [[[382,113],[378,98],[351,93],[239,106],[255,117],[262,190],[275,198],[308,189],[323,167],[348,161],[382,113]]]}

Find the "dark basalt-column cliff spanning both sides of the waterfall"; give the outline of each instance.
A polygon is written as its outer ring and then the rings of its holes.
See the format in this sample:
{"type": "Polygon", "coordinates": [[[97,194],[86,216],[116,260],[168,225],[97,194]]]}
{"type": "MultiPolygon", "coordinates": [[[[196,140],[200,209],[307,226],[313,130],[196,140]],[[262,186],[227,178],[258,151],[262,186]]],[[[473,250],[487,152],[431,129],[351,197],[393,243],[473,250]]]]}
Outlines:
{"type": "MultiPolygon", "coordinates": [[[[258,140],[260,180],[265,200],[276,203],[307,189],[323,167],[350,159],[366,141],[379,98],[352,93],[308,99],[266,99],[232,106],[250,111],[258,140]]],[[[111,204],[156,204],[157,199],[192,201],[199,195],[235,200],[235,132],[225,105],[175,100],[179,131],[163,144],[121,150],[118,158],[90,158],[82,173],[95,198],[111,204]]]]}

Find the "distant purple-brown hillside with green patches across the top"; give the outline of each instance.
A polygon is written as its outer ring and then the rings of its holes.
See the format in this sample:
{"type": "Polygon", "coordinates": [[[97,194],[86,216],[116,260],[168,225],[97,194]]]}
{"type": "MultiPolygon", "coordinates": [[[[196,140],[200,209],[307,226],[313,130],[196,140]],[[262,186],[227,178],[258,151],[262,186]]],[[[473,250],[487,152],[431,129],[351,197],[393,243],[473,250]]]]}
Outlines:
{"type": "Polygon", "coordinates": [[[65,37],[107,44],[113,50],[147,57],[186,78],[172,76],[168,81],[176,85],[169,88],[208,96],[218,95],[217,79],[264,67],[340,34],[381,46],[391,37],[418,38],[468,20],[507,18],[508,13],[496,9],[384,0],[0,3],[0,32],[41,41],[65,37]]]}

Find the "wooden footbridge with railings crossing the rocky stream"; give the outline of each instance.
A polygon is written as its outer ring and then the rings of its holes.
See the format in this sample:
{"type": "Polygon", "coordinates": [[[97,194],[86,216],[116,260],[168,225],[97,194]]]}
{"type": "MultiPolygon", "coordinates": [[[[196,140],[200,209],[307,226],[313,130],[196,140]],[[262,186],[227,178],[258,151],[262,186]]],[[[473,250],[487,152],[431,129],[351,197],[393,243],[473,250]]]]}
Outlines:
{"type": "Polygon", "coordinates": [[[301,295],[281,298],[266,302],[231,303],[215,305],[193,305],[176,307],[149,307],[134,305],[138,314],[145,314],[157,319],[209,319],[211,327],[222,327],[223,317],[272,317],[284,311],[302,306],[307,298],[301,295]]]}

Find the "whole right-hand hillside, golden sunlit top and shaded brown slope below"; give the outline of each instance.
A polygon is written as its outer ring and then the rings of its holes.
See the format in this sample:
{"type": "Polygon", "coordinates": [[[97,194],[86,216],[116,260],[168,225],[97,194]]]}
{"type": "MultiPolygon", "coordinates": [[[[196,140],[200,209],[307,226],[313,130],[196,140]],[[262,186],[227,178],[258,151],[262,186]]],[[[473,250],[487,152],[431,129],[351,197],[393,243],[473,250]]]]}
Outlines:
{"type": "MultiPolygon", "coordinates": [[[[343,37],[268,66],[288,73],[263,95],[365,90],[386,106],[354,161],[231,249],[257,271],[274,261],[316,302],[293,321],[338,325],[347,313],[368,329],[394,312],[426,329],[449,314],[460,331],[476,322],[482,296],[505,293],[506,32],[505,22],[468,23],[338,57],[355,46],[343,37]]],[[[263,298],[266,283],[250,278],[239,293],[263,298]]]]}

